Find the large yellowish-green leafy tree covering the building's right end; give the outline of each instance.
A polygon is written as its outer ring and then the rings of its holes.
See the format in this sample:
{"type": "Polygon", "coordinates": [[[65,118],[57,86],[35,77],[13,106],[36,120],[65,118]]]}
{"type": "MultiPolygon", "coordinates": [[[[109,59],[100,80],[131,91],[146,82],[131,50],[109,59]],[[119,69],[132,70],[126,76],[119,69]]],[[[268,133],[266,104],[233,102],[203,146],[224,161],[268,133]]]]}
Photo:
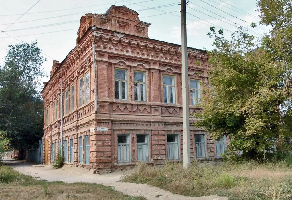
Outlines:
{"type": "MultiPolygon", "coordinates": [[[[260,23],[269,34],[256,38],[238,27],[231,39],[211,27],[215,37],[209,62],[211,87],[204,91],[202,120],[213,139],[230,137],[228,152],[263,160],[291,137],[291,1],[260,0],[260,23]]],[[[251,26],[256,26],[255,23],[251,26]]]]}

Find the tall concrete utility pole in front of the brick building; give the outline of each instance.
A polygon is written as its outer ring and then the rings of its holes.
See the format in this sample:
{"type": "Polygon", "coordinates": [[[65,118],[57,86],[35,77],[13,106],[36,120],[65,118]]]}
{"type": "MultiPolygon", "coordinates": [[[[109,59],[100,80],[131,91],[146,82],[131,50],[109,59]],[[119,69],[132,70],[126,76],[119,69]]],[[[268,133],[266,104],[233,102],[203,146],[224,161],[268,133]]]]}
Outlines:
{"type": "MultiPolygon", "coordinates": [[[[189,1],[187,1],[188,3],[189,1]]],[[[189,79],[187,69],[187,19],[186,0],[180,0],[181,34],[182,34],[182,84],[183,84],[183,166],[189,168],[190,156],[190,111],[189,79]]]]}

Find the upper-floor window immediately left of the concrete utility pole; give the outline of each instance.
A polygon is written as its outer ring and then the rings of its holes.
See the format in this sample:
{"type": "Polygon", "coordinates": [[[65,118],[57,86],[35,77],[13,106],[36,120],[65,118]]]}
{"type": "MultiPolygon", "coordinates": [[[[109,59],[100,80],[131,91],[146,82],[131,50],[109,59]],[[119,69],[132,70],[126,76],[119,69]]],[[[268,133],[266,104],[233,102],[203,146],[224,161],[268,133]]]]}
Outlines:
{"type": "Polygon", "coordinates": [[[164,103],[175,103],[174,77],[163,76],[164,103]]]}

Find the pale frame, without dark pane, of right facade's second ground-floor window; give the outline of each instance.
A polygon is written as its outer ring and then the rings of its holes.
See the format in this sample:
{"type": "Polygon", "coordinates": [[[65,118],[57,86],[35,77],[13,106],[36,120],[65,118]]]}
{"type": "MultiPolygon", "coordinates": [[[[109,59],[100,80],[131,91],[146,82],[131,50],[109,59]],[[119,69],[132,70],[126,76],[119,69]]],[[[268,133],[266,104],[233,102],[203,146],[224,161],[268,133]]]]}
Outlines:
{"type": "Polygon", "coordinates": [[[137,141],[137,161],[149,162],[149,134],[137,134],[136,141],[137,141]],[[138,136],[141,135],[145,137],[145,142],[138,142],[138,136]]]}

